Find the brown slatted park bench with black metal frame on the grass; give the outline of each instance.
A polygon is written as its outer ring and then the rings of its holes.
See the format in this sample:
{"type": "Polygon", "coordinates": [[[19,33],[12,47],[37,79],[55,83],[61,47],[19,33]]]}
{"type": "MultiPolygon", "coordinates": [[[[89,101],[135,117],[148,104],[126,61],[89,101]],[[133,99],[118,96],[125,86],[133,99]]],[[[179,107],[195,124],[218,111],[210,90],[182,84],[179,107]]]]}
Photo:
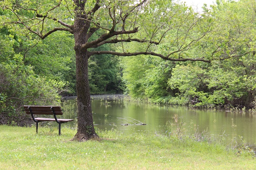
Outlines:
{"type": "Polygon", "coordinates": [[[26,114],[30,114],[34,122],[36,122],[36,133],[38,133],[38,122],[50,121],[59,124],[58,130],[61,135],[61,123],[73,121],[73,119],[57,119],[56,115],[63,115],[60,106],[23,106],[26,114]],[[54,118],[35,118],[34,115],[53,115],[54,118]]]}

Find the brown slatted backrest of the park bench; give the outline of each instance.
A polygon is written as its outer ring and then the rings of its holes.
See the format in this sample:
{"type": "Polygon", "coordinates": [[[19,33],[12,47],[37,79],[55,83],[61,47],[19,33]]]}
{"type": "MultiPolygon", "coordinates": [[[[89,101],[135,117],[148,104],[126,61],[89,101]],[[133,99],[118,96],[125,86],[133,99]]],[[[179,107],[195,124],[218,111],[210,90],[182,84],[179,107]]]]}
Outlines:
{"type": "Polygon", "coordinates": [[[43,114],[43,115],[53,115],[52,109],[53,108],[55,115],[63,115],[60,106],[24,106],[26,114],[31,114],[29,111],[32,111],[33,114],[43,114]]]}

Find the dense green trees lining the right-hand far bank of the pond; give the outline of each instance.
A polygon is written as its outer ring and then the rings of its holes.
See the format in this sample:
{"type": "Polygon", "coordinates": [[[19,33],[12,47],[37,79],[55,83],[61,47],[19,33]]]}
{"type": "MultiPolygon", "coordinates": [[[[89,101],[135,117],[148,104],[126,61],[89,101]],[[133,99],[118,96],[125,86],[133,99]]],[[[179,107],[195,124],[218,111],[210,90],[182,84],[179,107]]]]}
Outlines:
{"type": "Polygon", "coordinates": [[[215,6],[204,8],[204,12],[212,16],[211,29],[215,30],[186,53],[209,58],[215,54],[237,57],[210,63],[125,57],[123,78],[128,94],[154,103],[255,107],[255,52],[246,52],[255,45],[255,1],[216,1],[215,6]]]}

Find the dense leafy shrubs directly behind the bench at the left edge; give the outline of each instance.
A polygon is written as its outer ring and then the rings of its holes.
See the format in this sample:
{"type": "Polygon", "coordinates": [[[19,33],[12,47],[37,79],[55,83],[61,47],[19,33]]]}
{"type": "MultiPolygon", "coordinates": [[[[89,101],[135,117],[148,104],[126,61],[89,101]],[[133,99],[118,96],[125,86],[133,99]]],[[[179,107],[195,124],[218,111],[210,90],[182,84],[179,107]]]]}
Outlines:
{"type": "Polygon", "coordinates": [[[24,56],[17,54],[23,48],[17,34],[4,27],[0,37],[0,124],[26,125],[22,106],[59,103],[67,83],[38,76],[31,65],[24,65],[24,56]]]}

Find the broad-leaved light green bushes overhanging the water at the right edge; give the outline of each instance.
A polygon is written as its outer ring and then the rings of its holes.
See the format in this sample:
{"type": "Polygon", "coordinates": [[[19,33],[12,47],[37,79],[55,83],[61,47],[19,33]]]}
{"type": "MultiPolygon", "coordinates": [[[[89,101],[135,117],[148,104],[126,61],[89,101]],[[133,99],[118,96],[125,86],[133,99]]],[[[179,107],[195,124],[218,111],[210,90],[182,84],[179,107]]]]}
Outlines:
{"type": "Polygon", "coordinates": [[[171,89],[177,89],[172,104],[191,106],[245,106],[254,107],[255,76],[247,75],[241,61],[233,59],[213,62],[210,67],[177,65],[169,79],[171,89]],[[233,65],[232,67],[230,65],[233,65]]]}

